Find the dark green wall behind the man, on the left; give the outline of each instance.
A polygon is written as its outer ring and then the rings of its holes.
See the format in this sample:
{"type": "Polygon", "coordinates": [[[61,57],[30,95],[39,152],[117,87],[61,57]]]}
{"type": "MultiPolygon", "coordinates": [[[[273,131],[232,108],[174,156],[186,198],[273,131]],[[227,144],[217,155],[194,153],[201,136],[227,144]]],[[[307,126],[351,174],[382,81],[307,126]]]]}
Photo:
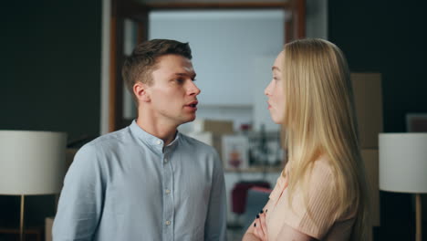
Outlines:
{"type": "MultiPolygon", "coordinates": [[[[101,0],[2,2],[0,130],[99,135],[101,9],[101,0]]],[[[54,204],[28,197],[27,225],[54,204]]],[[[18,211],[18,197],[0,196],[0,225],[18,226],[18,211]]]]}

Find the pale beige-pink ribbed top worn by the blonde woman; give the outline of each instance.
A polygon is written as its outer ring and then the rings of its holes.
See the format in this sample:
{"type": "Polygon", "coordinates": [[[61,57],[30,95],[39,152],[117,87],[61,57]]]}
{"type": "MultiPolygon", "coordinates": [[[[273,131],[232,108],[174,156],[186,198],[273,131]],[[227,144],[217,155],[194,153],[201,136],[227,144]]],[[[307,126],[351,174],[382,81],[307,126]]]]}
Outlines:
{"type": "Polygon", "coordinates": [[[332,168],[325,158],[314,163],[308,181],[307,205],[301,188],[296,186],[292,197],[292,209],[288,202],[287,176],[280,175],[275,189],[266,204],[266,225],[269,240],[281,240],[278,236],[283,225],[318,240],[349,240],[355,220],[355,212],[338,213],[335,179],[332,168]],[[309,206],[310,214],[307,213],[309,206]]]}

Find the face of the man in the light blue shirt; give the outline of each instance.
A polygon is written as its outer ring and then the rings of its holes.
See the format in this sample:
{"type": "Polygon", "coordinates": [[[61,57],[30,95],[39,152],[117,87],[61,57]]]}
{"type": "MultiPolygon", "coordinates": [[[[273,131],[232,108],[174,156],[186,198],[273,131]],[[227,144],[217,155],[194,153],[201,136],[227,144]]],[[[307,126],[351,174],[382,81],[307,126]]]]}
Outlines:
{"type": "Polygon", "coordinates": [[[200,93],[193,82],[195,76],[192,61],[188,58],[178,55],[157,58],[151,85],[146,89],[155,121],[178,126],[195,119],[200,93]]]}

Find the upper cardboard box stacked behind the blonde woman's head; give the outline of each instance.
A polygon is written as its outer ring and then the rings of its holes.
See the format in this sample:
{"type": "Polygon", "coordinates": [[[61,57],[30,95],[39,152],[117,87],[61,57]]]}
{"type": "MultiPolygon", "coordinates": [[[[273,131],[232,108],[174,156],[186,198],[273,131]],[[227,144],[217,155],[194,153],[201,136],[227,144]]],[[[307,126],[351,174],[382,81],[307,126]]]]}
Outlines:
{"type": "Polygon", "coordinates": [[[382,132],[380,73],[351,73],[361,149],[378,149],[382,132]]]}

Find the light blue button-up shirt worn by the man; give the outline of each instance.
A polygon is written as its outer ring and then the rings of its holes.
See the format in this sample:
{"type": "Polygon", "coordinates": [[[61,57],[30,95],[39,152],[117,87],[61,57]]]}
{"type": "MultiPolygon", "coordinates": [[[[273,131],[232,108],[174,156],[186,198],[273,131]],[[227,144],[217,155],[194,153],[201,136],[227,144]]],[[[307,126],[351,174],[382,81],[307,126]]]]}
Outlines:
{"type": "Polygon", "coordinates": [[[181,133],[161,139],[129,127],[76,154],[53,239],[225,240],[224,172],[213,147],[181,133]]]}

